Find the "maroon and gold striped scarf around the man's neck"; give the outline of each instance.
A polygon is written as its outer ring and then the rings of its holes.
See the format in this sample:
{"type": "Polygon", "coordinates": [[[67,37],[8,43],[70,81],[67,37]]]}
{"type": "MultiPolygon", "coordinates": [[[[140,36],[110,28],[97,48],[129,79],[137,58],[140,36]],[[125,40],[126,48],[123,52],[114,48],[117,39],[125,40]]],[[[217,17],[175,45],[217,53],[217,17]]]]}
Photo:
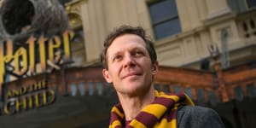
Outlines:
{"type": "Polygon", "coordinates": [[[121,104],[115,105],[111,110],[109,128],[176,128],[177,107],[180,105],[194,106],[194,103],[185,94],[166,95],[155,90],[154,102],[143,108],[126,126],[121,104]]]}

